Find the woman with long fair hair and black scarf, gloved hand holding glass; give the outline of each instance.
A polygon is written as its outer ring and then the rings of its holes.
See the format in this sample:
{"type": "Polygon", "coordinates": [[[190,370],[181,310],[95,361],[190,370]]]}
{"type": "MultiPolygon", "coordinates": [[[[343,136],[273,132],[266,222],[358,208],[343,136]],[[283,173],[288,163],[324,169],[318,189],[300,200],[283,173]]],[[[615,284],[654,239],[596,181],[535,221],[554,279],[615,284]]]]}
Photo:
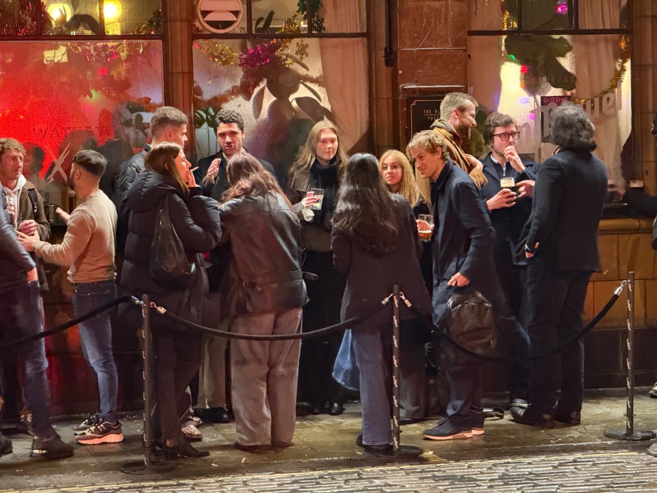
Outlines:
{"type": "MultiPolygon", "coordinates": [[[[335,125],[315,123],[289,170],[287,197],[294,204],[305,249],[303,270],[318,275],[308,283],[310,301],[303,309],[303,331],[339,321],[344,278],[333,268],[331,220],[347,155],[339,145],[335,125]],[[313,190],[315,189],[315,190],[313,190]],[[322,190],[322,199],[315,192],[322,190]]],[[[331,377],[342,336],[331,333],[303,342],[300,359],[300,394],[311,403],[311,413],[342,414],[345,392],[331,377]]]]}

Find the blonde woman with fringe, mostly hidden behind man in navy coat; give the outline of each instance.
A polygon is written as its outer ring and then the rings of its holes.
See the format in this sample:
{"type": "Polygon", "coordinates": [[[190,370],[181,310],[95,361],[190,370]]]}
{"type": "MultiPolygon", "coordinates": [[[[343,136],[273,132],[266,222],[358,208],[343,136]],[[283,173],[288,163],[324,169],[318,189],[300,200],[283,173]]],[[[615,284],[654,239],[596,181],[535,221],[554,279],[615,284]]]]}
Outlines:
{"type": "MultiPolygon", "coordinates": [[[[419,214],[430,214],[429,201],[417,187],[413,168],[407,157],[390,149],[378,160],[378,170],[389,190],[406,199],[413,208],[417,219],[419,214]]],[[[424,284],[431,293],[432,262],[431,243],[422,243],[420,270],[424,284]]],[[[424,344],[428,342],[427,334],[421,327],[416,327],[412,320],[402,321],[402,355],[400,356],[400,424],[409,425],[424,419],[424,344]]]]}

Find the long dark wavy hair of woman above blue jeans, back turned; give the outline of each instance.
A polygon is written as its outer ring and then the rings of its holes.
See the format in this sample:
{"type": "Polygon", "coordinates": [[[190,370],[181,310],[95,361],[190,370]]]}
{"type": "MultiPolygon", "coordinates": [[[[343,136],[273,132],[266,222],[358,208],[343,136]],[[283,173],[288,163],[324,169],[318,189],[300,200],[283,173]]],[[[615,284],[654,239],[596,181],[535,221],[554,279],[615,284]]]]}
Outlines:
{"type": "Polygon", "coordinates": [[[335,227],[376,257],[394,250],[397,213],[392,194],[372,154],[352,155],[337,192],[335,227]]]}

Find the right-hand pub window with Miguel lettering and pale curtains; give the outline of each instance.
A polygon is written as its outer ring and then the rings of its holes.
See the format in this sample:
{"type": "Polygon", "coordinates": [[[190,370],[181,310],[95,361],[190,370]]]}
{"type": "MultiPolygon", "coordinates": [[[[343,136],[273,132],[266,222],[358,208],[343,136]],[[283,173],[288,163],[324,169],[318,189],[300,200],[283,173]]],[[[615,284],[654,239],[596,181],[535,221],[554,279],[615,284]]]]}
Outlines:
{"type": "MultiPolygon", "coordinates": [[[[565,101],[595,124],[595,153],[610,184],[640,179],[632,162],[632,29],[628,0],[473,0],[469,3],[468,77],[481,105],[517,119],[519,153],[541,162],[548,114],[565,101]]],[[[485,154],[480,132],[472,149],[485,154]]]]}

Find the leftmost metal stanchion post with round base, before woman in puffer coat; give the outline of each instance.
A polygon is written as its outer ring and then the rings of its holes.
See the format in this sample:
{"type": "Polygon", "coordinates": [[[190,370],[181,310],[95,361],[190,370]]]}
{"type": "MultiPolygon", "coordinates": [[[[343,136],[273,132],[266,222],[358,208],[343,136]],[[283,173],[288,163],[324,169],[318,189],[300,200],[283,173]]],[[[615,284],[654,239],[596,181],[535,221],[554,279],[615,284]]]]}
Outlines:
{"type": "Polygon", "coordinates": [[[151,475],[171,472],[174,469],[172,464],[165,462],[153,461],[153,442],[151,428],[151,303],[149,295],[142,296],[142,338],[144,340],[144,349],[142,357],[144,359],[144,369],[142,377],[144,379],[144,435],[142,437],[144,444],[144,461],[129,462],[121,467],[121,472],[133,475],[151,475]]]}

